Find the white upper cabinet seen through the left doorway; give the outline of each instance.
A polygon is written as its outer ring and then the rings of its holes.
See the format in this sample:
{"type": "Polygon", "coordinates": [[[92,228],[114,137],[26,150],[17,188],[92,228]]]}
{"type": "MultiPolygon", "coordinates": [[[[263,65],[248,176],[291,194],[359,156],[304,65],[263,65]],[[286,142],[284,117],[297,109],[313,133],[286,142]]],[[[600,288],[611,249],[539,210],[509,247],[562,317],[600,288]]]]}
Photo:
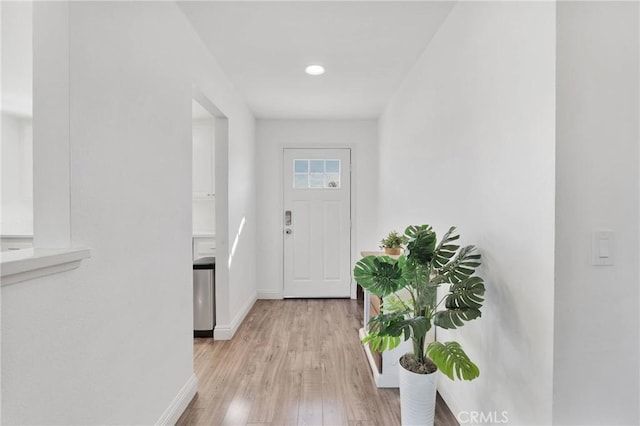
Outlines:
{"type": "Polygon", "coordinates": [[[194,120],[193,198],[213,199],[215,181],[215,125],[213,119],[194,120]]]}

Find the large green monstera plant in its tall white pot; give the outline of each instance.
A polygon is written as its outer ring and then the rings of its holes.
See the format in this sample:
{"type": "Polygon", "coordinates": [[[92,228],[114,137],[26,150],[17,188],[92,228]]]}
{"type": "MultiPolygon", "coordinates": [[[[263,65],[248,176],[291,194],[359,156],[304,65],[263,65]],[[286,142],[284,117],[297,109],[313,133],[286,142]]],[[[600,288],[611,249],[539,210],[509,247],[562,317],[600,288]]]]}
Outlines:
{"type": "Polygon", "coordinates": [[[400,358],[402,424],[432,425],[437,370],[451,380],[473,380],[480,370],[459,343],[427,342],[427,333],[479,318],[485,286],[475,275],[480,254],[474,246],[459,246],[455,227],[440,242],[430,225],[409,226],[404,235],[399,258],[367,256],[355,266],[356,281],[384,300],[381,313],[369,319],[363,343],[384,351],[411,339],[413,351],[400,358]],[[440,287],[446,294],[438,299],[440,287]]]}

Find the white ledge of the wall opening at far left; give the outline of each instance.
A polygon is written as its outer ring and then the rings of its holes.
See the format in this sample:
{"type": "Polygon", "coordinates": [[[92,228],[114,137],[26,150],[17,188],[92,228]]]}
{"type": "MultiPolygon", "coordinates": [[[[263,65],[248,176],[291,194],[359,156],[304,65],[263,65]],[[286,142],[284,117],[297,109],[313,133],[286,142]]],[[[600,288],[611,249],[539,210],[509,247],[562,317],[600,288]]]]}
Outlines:
{"type": "Polygon", "coordinates": [[[88,248],[24,249],[0,254],[0,285],[2,287],[80,266],[91,257],[88,248]]]}

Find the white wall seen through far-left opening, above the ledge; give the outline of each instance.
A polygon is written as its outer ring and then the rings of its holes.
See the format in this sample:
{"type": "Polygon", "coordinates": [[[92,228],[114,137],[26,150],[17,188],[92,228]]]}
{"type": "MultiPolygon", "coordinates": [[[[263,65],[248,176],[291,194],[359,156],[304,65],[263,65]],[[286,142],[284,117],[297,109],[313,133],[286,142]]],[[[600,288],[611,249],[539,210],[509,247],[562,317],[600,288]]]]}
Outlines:
{"type": "Polygon", "coordinates": [[[2,235],[33,235],[32,126],[30,117],[2,113],[2,235]]]}

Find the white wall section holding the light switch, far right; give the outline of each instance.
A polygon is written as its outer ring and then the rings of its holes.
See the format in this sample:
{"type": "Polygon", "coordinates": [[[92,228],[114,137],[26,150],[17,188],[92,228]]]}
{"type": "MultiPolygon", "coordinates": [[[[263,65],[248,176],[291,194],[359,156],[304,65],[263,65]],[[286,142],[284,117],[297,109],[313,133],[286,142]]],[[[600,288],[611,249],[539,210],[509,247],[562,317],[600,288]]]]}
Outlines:
{"type": "Polygon", "coordinates": [[[638,424],[638,3],[559,2],[554,411],[638,424]],[[612,230],[614,265],[591,265],[612,230]]]}

